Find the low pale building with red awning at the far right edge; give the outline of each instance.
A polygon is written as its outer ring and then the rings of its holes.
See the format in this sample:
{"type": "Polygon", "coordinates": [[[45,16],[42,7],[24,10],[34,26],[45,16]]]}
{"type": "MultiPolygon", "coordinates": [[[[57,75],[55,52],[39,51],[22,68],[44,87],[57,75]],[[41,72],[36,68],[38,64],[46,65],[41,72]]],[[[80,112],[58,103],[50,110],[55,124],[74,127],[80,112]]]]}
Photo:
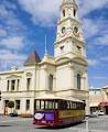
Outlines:
{"type": "Polygon", "coordinates": [[[100,89],[89,89],[90,112],[102,110],[108,114],[108,86],[100,89]]]}

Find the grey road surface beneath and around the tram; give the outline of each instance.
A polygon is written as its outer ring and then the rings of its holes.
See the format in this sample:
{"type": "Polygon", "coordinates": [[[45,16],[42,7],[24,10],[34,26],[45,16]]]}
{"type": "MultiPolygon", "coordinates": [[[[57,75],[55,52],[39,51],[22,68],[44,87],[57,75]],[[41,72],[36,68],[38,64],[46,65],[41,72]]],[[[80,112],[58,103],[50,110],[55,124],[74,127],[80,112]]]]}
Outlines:
{"type": "MultiPolygon", "coordinates": [[[[86,123],[51,129],[32,124],[32,119],[0,117],[0,132],[86,132],[86,123]]],[[[90,132],[108,132],[108,117],[89,119],[90,132]]]]}

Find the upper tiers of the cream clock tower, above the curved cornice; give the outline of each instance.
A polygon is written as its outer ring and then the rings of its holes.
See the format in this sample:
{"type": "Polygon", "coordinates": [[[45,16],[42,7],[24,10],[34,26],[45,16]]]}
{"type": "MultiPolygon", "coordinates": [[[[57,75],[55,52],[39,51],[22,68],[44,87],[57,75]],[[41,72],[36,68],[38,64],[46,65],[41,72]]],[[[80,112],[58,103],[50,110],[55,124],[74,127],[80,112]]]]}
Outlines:
{"type": "Polygon", "coordinates": [[[75,0],[63,0],[61,6],[61,18],[57,22],[54,56],[86,57],[85,41],[82,35],[80,22],[78,20],[78,6],[75,0]]]}

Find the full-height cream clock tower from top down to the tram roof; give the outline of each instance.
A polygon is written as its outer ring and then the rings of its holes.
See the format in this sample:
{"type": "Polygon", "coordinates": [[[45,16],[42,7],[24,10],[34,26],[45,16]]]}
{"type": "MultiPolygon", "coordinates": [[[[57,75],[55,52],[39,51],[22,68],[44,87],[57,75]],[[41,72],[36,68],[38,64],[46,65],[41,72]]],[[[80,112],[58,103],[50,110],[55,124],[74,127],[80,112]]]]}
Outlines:
{"type": "Polygon", "coordinates": [[[78,20],[76,0],[63,0],[57,21],[54,58],[56,64],[56,96],[75,97],[88,107],[88,64],[85,40],[78,20]]]}

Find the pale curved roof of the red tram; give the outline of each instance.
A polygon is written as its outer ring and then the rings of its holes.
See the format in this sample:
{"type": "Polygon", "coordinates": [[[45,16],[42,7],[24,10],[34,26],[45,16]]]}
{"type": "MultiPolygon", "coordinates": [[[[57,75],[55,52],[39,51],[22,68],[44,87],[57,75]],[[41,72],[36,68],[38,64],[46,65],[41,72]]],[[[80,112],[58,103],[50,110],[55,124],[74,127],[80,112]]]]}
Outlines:
{"type": "Polygon", "coordinates": [[[79,99],[76,99],[76,98],[73,98],[73,97],[56,97],[56,96],[52,96],[52,95],[45,95],[45,96],[41,96],[41,97],[36,97],[35,99],[41,99],[41,100],[52,100],[52,99],[55,99],[55,100],[68,100],[68,101],[76,101],[76,102],[84,102],[79,99]]]}

